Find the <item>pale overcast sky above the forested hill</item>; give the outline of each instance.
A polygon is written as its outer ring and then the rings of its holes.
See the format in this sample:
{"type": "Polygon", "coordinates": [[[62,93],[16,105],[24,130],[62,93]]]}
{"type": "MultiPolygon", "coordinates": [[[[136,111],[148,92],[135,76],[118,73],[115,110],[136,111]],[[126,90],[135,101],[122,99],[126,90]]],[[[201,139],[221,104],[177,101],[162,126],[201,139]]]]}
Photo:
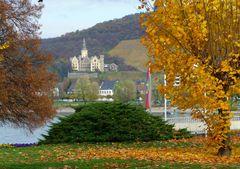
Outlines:
{"type": "Polygon", "coordinates": [[[44,0],[42,38],[57,37],[139,12],[138,0],[44,0]]]}

